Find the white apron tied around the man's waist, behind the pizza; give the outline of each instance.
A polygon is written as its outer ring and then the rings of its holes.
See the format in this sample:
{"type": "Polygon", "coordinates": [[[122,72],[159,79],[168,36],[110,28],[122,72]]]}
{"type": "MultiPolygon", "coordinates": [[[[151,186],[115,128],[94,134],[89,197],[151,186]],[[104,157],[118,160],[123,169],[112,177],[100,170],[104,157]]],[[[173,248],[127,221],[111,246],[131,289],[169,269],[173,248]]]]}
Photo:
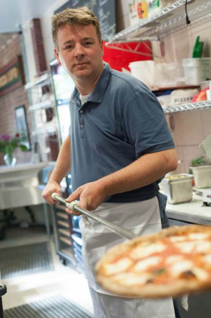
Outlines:
{"type": "MultiPolygon", "coordinates": [[[[161,231],[159,204],[156,197],[141,202],[102,203],[94,213],[137,235],[161,231]]],[[[85,216],[80,220],[80,229],[84,268],[95,318],[175,318],[172,298],[162,300],[123,298],[104,290],[94,276],[95,264],[108,249],[127,239],[85,216]]]]}

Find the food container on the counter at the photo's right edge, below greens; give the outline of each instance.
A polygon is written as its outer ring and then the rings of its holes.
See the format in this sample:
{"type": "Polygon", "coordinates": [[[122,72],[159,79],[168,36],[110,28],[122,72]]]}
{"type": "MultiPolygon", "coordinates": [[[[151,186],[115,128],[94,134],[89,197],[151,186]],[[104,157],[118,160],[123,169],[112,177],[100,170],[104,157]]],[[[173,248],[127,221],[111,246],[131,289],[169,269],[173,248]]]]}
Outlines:
{"type": "Polygon", "coordinates": [[[194,174],[196,188],[211,187],[211,165],[200,165],[191,167],[194,174]]]}

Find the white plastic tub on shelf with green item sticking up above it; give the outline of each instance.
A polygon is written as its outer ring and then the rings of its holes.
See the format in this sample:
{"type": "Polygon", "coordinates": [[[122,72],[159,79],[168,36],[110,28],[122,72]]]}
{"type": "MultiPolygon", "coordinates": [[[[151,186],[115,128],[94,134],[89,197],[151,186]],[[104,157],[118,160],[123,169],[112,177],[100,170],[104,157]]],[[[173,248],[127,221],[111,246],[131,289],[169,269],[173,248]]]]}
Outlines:
{"type": "Polygon", "coordinates": [[[182,59],[182,67],[187,85],[199,85],[200,82],[211,79],[210,57],[182,59]]]}

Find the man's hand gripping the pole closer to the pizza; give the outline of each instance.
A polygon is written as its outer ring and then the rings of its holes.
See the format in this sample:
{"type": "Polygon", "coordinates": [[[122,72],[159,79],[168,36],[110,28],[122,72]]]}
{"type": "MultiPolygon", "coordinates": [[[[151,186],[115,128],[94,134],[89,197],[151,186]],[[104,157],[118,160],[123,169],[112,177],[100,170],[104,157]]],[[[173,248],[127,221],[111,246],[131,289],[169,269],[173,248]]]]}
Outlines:
{"type": "MultiPolygon", "coordinates": [[[[69,203],[80,198],[80,207],[85,210],[93,211],[97,209],[106,197],[107,194],[105,188],[102,186],[100,180],[98,180],[81,185],[65,201],[69,203]]],[[[81,215],[81,213],[69,209],[66,209],[65,211],[68,214],[81,215]]]]}

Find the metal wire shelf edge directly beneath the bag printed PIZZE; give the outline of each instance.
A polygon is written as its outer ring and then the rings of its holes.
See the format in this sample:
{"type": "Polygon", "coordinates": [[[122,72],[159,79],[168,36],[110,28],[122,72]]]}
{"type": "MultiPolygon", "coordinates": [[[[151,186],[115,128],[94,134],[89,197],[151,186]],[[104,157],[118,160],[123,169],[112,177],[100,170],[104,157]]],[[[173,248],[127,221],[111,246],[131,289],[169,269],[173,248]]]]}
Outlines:
{"type": "Polygon", "coordinates": [[[211,108],[211,100],[204,100],[195,103],[179,104],[175,106],[168,106],[163,109],[165,114],[172,114],[177,112],[185,112],[196,109],[208,109],[211,108]]]}

